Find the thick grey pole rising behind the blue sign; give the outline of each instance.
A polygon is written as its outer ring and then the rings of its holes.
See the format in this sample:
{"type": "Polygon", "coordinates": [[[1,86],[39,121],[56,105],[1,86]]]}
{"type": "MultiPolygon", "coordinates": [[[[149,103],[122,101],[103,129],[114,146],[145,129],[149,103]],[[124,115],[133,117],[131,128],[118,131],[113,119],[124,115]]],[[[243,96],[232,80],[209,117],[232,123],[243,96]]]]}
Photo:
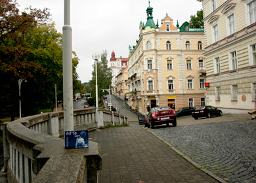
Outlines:
{"type": "Polygon", "coordinates": [[[74,130],[72,27],[70,26],[70,0],[64,0],[63,31],[63,102],[64,130],[74,130]]]}

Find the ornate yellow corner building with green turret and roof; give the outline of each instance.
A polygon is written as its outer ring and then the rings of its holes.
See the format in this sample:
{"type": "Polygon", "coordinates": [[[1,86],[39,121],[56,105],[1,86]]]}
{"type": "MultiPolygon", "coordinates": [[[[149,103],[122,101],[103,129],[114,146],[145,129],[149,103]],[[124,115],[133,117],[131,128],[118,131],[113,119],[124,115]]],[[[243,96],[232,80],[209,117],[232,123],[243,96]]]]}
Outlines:
{"type": "Polygon", "coordinates": [[[146,12],[137,45],[129,47],[129,105],[139,112],[146,112],[147,106],[177,110],[205,105],[203,29],[190,29],[188,22],[175,26],[168,15],[159,26],[154,23],[153,8],[146,12]]]}

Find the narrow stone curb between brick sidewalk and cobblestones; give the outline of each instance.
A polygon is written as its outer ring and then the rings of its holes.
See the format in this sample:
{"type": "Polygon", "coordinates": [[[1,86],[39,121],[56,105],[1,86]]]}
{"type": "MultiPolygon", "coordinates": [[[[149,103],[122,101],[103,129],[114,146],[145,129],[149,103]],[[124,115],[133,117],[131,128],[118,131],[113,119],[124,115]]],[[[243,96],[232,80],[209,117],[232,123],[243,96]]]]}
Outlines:
{"type": "MultiPolygon", "coordinates": [[[[144,128],[145,130],[147,130],[148,128],[144,128]]],[[[167,144],[167,146],[169,146],[169,148],[171,148],[171,150],[173,150],[174,152],[176,152],[177,154],[179,154],[182,158],[186,159],[186,161],[190,162],[192,165],[194,165],[195,167],[197,167],[198,169],[200,169],[200,171],[203,171],[204,173],[206,173],[207,175],[215,178],[215,180],[218,180],[221,183],[227,183],[223,178],[220,178],[219,176],[215,175],[214,173],[212,173],[211,171],[208,171],[207,169],[205,169],[204,167],[200,166],[198,163],[196,163],[195,161],[192,161],[192,159],[188,158],[188,156],[184,155],[180,150],[178,150],[177,148],[174,148],[171,144],[169,144],[169,142],[164,141],[163,139],[161,139],[161,137],[158,137],[158,135],[156,135],[156,133],[150,131],[150,133],[152,133],[153,135],[155,135],[158,139],[160,139],[161,141],[163,141],[165,144],[167,144]]]]}

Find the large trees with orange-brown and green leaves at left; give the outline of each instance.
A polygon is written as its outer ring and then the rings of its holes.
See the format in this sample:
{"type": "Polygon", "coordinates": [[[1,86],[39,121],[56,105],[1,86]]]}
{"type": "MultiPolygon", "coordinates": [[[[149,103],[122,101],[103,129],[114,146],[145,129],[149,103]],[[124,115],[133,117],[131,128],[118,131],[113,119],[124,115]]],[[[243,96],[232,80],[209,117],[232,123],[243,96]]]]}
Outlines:
{"type": "MultiPolygon", "coordinates": [[[[17,7],[15,0],[0,0],[0,118],[12,120],[19,111],[19,79],[24,116],[54,107],[55,84],[63,98],[62,34],[49,22],[47,8],[20,12],[17,7]]],[[[73,52],[74,80],[78,61],[73,52]]]]}

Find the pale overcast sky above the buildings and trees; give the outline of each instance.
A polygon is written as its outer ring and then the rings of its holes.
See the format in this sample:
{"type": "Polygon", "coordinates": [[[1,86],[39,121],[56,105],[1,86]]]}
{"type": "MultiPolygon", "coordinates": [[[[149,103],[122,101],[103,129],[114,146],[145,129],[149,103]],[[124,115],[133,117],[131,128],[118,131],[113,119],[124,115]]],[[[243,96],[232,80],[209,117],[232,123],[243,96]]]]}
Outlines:
{"type": "MultiPolygon", "coordinates": [[[[81,82],[92,78],[93,58],[97,52],[108,51],[108,61],[112,51],[116,58],[127,58],[129,45],[136,45],[139,39],[140,21],[146,24],[148,0],[74,0],[70,1],[72,50],[77,53],[79,65],[77,73],[81,82]]],[[[49,8],[52,21],[58,32],[62,33],[64,24],[64,0],[17,0],[20,10],[32,8],[49,8]]],[[[151,0],[153,20],[156,23],[166,13],[173,18],[176,25],[189,22],[190,16],[202,9],[202,3],[196,0],[151,0]]]]}

